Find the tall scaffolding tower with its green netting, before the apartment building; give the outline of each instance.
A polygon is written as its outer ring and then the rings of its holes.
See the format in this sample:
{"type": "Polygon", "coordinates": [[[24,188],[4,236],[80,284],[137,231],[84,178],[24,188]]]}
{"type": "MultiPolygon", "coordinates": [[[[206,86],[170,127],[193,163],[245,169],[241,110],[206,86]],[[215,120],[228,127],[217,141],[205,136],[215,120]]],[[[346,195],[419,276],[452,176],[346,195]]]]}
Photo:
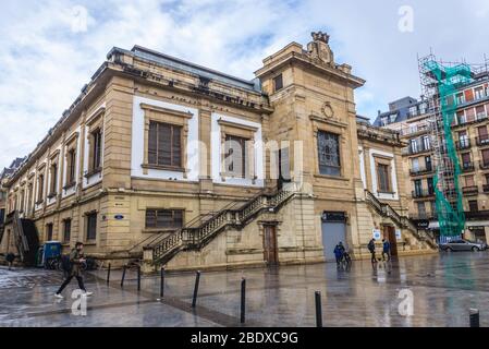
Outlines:
{"type": "MultiPolygon", "coordinates": [[[[466,63],[444,63],[429,56],[418,59],[421,92],[430,113],[431,145],[436,176],[433,189],[442,242],[460,238],[465,228],[463,195],[459,183],[461,167],[452,136],[456,116],[459,87],[474,81],[475,74],[466,63]]],[[[485,70],[487,72],[487,68],[485,70]]]]}

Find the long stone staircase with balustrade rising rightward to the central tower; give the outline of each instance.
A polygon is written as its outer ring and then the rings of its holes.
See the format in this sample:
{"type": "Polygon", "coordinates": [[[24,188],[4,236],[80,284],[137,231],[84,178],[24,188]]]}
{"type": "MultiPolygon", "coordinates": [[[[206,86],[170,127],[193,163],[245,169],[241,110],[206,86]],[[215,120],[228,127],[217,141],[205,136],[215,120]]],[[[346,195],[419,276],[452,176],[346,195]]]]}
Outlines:
{"type": "Polygon", "coordinates": [[[143,260],[152,266],[168,263],[180,251],[199,251],[224,229],[242,229],[260,212],[276,213],[285,204],[295,191],[280,190],[274,194],[260,193],[240,208],[223,208],[197,227],[187,225],[170,236],[156,239],[143,248],[143,260]]]}

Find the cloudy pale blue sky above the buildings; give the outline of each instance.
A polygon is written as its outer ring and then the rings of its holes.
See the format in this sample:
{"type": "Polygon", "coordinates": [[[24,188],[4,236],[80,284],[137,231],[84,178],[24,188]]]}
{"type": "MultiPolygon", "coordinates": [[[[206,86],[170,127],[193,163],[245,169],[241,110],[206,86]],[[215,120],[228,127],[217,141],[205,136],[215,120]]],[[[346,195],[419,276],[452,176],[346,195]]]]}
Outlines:
{"type": "Polygon", "coordinates": [[[1,2],[0,168],[34,149],[113,46],[253,79],[266,56],[327,31],[337,61],[367,80],[356,103],[372,119],[390,100],[419,95],[417,53],[489,55],[489,0],[1,2]]]}

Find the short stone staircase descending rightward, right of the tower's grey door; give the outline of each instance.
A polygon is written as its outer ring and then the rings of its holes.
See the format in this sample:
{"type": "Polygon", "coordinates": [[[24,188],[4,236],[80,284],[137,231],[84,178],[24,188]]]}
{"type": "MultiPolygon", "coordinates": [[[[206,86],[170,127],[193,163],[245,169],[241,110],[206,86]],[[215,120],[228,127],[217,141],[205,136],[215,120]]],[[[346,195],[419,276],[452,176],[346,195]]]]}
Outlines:
{"type": "Polygon", "coordinates": [[[365,201],[374,210],[382,217],[390,218],[399,228],[408,229],[419,241],[426,242],[432,249],[438,249],[431,232],[419,232],[408,217],[401,216],[391,205],[380,202],[369,190],[365,190],[365,201]]]}

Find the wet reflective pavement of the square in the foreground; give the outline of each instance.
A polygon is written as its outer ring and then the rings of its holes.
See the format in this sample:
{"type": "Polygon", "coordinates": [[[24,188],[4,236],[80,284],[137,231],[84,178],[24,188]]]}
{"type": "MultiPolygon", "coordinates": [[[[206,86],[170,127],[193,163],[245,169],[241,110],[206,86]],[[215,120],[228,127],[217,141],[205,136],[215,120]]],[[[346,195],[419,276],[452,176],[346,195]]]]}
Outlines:
{"type": "Polygon", "coordinates": [[[354,261],[232,272],[203,272],[197,306],[191,308],[195,273],[158,276],[135,270],[121,288],[121,270],[87,273],[86,315],[72,313],[71,292],[53,293],[61,274],[0,267],[0,326],[240,326],[241,280],[246,278],[246,326],[315,326],[315,291],[321,292],[325,326],[468,326],[479,309],[489,326],[489,252],[403,257],[391,263],[354,261]],[[406,293],[406,290],[407,293],[406,293]],[[400,291],[402,291],[400,293],[400,291]],[[406,294],[413,296],[413,313],[406,294]],[[400,314],[400,308],[401,313],[400,314]]]}

